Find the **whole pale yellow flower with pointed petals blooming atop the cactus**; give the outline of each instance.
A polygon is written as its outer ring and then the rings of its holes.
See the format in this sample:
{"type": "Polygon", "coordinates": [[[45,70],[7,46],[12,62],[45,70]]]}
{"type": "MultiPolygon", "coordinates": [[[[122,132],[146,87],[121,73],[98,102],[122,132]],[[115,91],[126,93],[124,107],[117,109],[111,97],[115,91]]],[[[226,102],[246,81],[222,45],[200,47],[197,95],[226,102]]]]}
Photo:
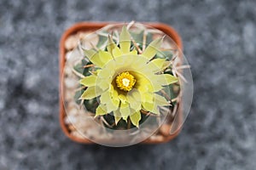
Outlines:
{"type": "Polygon", "coordinates": [[[108,37],[106,51],[84,50],[90,62],[98,68],[80,83],[86,90],[80,99],[99,97],[96,116],[113,114],[115,123],[127,120],[139,127],[141,110],[160,114],[158,106],[170,105],[160,94],[164,86],[177,82],[177,77],[164,74],[166,59],[154,59],[160,50],[162,38],[148,44],[142,54],[131,49],[131,35],[124,26],[119,45],[108,37]]]}

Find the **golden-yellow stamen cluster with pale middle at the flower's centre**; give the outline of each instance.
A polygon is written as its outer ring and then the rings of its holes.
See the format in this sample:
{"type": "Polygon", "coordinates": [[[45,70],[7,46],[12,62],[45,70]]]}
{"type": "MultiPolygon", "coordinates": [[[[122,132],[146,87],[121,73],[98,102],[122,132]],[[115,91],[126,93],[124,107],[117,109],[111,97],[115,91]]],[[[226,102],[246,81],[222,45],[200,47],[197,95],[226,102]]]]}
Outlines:
{"type": "Polygon", "coordinates": [[[128,92],[133,88],[133,86],[136,82],[136,79],[130,74],[130,72],[125,71],[125,72],[120,73],[115,78],[115,82],[119,89],[128,92]]]}

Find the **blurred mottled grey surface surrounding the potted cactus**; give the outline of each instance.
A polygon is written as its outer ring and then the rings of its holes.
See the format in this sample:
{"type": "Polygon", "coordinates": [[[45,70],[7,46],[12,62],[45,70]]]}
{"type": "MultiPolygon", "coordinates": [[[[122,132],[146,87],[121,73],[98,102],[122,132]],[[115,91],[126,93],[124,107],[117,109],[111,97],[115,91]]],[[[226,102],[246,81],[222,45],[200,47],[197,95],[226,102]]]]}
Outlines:
{"type": "Polygon", "coordinates": [[[256,2],[0,0],[0,169],[256,168],[256,2]],[[183,38],[194,101],[167,144],[76,144],[59,125],[58,48],[79,21],[158,21],[183,38]]]}

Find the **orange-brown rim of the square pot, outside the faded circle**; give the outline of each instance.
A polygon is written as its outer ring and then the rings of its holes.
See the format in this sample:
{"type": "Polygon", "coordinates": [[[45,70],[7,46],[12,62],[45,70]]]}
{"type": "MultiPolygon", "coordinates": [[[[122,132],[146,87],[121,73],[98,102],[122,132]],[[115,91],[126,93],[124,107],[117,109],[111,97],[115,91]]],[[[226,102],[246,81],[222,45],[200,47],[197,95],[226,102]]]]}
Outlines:
{"type": "MultiPolygon", "coordinates": [[[[91,142],[89,139],[80,139],[78,137],[75,137],[71,135],[71,133],[68,130],[67,125],[64,122],[64,117],[65,117],[65,110],[64,110],[64,104],[62,100],[62,91],[61,91],[61,82],[62,82],[62,73],[65,65],[65,55],[66,55],[66,48],[65,48],[65,42],[67,40],[67,37],[76,34],[79,31],[96,31],[101,29],[103,26],[106,26],[110,23],[108,22],[81,22],[77,23],[70,28],[68,28],[62,35],[61,37],[61,42],[60,42],[60,123],[61,123],[61,129],[62,131],[67,135],[69,139],[72,139],[75,142],[82,143],[82,144],[94,144],[91,142]]],[[[113,23],[112,23],[113,24],[113,23]]],[[[177,31],[175,31],[171,26],[167,26],[166,24],[162,23],[144,23],[147,24],[148,26],[152,26],[156,29],[159,29],[160,31],[165,32],[169,37],[172,37],[172,40],[176,42],[177,47],[179,50],[182,50],[183,48],[183,43],[181,40],[181,37],[177,34],[177,31]]],[[[182,113],[177,113],[178,114],[178,123],[182,123],[183,119],[183,114],[182,113]]],[[[167,127],[168,128],[168,127],[167,127]]],[[[146,139],[142,143],[143,144],[159,144],[159,143],[166,143],[170,141],[171,139],[174,139],[177,134],[181,131],[181,127],[177,128],[177,130],[172,133],[172,135],[168,134],[163,134],[164,139],[159,141],[159,140],[153,140],[153,139],[146,139]]]]}

